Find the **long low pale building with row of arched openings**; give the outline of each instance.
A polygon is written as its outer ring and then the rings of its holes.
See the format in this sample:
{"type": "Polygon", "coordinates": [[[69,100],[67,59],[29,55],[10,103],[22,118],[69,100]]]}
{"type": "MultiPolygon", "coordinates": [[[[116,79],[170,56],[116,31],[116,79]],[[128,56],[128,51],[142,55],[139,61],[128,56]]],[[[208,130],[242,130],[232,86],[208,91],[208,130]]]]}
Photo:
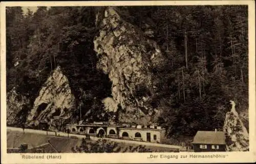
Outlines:
{"type": "Polygon", "coordinates": [[[161,127],[142,127],[129,126],[127,124],[111,124],[109,122],[99,122],[92,124],[68,124],[66,130],[70,133],[76,134],[89,134],[92,136],[116,138],[122,140],[135,140],[143,142],[161,143],[161,139],[164,139],[165,129],[161,127]]]}

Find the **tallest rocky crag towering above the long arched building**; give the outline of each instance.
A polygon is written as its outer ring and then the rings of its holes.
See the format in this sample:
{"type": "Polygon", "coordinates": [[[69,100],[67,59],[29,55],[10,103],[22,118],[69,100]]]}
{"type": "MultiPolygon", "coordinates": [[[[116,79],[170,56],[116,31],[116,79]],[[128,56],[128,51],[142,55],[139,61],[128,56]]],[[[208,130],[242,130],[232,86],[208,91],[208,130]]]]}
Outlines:
{"type": "Polygon", "coordinates": [[[97,68],[112,81],[113,97],[103,101],[108,102],[105,106],[116,109],[120,104],[121,122],[150,123],[152,116],[158,113],[150,101],[157,81],[151,70],[163,60],[160,48],[134,25],[124,21],[115,7],[106,8],[96,19],[100,27],[94,39],[97,68]]]}

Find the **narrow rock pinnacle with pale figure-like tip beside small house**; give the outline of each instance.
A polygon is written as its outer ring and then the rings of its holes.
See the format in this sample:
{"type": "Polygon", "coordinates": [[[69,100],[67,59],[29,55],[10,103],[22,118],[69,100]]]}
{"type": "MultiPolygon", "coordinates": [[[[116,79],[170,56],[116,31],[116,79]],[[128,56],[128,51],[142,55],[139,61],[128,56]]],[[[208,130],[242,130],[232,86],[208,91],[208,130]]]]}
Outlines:
{"type": "Polygon", "coordinates": [[[234,101],[230,101],[232,108],[227,112],[223,131],[226,134],[227,151],[249,151],[249,134],[238,115],[234,101]]]}

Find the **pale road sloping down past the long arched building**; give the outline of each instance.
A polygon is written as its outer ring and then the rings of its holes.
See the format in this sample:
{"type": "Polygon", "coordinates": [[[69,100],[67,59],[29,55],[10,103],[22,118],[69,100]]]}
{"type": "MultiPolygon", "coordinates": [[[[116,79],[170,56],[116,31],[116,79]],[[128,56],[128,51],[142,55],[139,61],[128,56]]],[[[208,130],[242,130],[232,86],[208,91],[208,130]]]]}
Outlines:
{"type": "MultiPolygon", "coordinates": [[[[7,127],[7,130],[23,132],[22,128],[17,128],[17,127],[7,127]]],[[[36,134],[45,134],[45,135],[47,134],[47,132],[44,131],[44,130],[25,129],[24,131],[25,131],[25,133],[36,133],[36,134]]],[[[57,136],[58,135],[59,136],[65,136],[65,137],[68,136],[68,133],[65,133],[65,132],[58,131],[56,133],[57,133],[57,136]]],[[[55,135],[55,132],[54,131],[48,131],[48,135],[55,135]]],[[[85,135],[80,135],[80,134],[72,134],[72,133],[70,133],[69,137],[71,137],[71,136],[76,136],[79,139],[86,138],[85,135]]],[[[90,136],[90,139],[93,140],[93,141],[97,141],[99,138],[97,138],[96,136],[90,136]]],[[[106,139],[108,141],[113,141],[113,142],[117,142],[117,143],[124,143],[124,144],[125,143],[126,144],[136,144],[136,145],[163,147],[163,148],[179,149],[179,150],[184,149],[181,146],[177,146],[177,145],[166,145],[166,144],[140,142],[140,141],[131,141],[131,140],[120,140],[120,139],[112,139],[112,138],[104,138],[104,139],[106,139]]]]}

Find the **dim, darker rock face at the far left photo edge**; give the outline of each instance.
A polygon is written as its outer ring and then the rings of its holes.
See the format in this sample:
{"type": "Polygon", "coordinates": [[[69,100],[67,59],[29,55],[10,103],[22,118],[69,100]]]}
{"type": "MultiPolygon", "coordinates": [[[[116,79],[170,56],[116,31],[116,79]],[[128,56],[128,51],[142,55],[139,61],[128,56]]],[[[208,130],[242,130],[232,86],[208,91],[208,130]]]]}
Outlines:
{"type": "Polygon", "coordinates": [[[29,100],[16,92],[13,88],[7,94],[7,125],[19,125],[22,118],[26,119],[26,114],[22,111],[28,105],[29,100]]]}

